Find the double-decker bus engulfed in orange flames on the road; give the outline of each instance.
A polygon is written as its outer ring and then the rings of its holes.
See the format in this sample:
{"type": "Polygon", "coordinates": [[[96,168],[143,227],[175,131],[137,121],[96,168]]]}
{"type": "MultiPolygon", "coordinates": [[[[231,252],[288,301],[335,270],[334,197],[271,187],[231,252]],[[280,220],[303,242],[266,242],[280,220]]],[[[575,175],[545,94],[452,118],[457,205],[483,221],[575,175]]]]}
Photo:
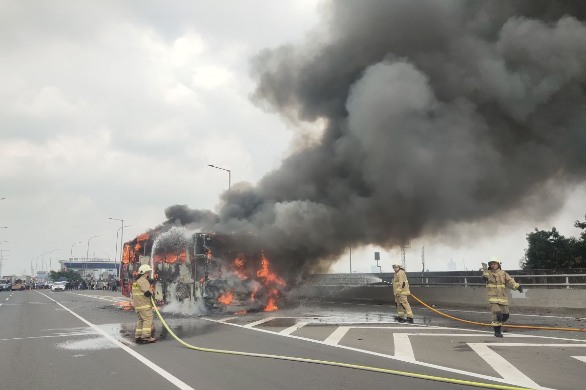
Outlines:
{"type": "Polygon", "coordinates": [[[153,269],[156,303],[203,303],[208,312],[275,310],[287,287],[254,234],[188,233],[179,226],[140,234],[122,250],[122,294],[130,296],[142,264],[153,269]]]}

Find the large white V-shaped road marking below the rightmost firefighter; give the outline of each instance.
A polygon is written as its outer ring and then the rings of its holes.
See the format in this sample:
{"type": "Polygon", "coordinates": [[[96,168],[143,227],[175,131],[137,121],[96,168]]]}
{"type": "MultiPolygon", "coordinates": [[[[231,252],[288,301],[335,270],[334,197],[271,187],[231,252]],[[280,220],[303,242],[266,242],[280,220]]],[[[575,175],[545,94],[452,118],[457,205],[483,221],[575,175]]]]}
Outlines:
{"type": "Polygon", "coordinates": [[[586,347],[586,344],[532,344],[532,343],[466,343],[483,358],[503,378],[514,380],[527,387],[539,386],[527,377],[523,372],[510,364],[505,358],[490,349],[490,346],[498,347],[586,347]]]}

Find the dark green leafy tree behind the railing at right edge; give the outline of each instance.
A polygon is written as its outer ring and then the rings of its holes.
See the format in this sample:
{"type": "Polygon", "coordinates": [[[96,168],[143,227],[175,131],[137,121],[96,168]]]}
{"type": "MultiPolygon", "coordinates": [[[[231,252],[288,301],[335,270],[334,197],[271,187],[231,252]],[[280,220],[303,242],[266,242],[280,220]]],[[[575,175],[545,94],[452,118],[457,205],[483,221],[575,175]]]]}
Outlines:
{"type": "Polygon", "coordinates": [[[580,239],[566,238],[555,227],[550,232],[536,228],[528,233],[529,247],[519,262],[520,267],[523,270],[586,268],[586,223],[577,220],[574,226],[584,229],[580,239]]]}

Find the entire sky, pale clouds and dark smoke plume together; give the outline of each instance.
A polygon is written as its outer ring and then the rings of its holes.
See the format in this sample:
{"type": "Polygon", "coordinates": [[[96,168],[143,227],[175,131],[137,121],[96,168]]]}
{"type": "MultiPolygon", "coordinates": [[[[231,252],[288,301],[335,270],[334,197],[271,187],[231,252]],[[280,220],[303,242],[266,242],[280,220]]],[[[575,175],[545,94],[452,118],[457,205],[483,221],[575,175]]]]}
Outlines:
{"type": "Polygon", "coordinates": [[[421,246],[430,270],[516,268],[525,233],[586,213],[585,18],[582,1],[5,1],[2,274],[96,235],[113,258],[107,217],[128,239],[175,204],[292,268],[348,271],[351,242],[354,270],[376,249],[390,270],[403,239],[408,271],[421,246]],[[206,164],[232,170],[227,204],[206,164]]]}

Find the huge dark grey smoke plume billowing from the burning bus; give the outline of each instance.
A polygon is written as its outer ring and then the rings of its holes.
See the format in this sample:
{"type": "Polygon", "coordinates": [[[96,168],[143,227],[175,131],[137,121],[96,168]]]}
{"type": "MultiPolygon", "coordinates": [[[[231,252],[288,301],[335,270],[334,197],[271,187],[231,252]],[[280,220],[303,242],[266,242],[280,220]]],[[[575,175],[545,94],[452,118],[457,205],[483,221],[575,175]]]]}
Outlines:
{"type": "MultiPolygon", "coordinates": [[[[289,275],[506,216],[586,177],[586,2],[336,1],[305,44],[253,59],[258,105],[326,123],[215,231],[255,232],[289,275]],[[551,185],[552,183],[556,185],[551,185]]],[[[224,198],[226,199],[226,198],[224,198]]],[[[208,219],[209,220],[209,219],[208,219]]]]}

